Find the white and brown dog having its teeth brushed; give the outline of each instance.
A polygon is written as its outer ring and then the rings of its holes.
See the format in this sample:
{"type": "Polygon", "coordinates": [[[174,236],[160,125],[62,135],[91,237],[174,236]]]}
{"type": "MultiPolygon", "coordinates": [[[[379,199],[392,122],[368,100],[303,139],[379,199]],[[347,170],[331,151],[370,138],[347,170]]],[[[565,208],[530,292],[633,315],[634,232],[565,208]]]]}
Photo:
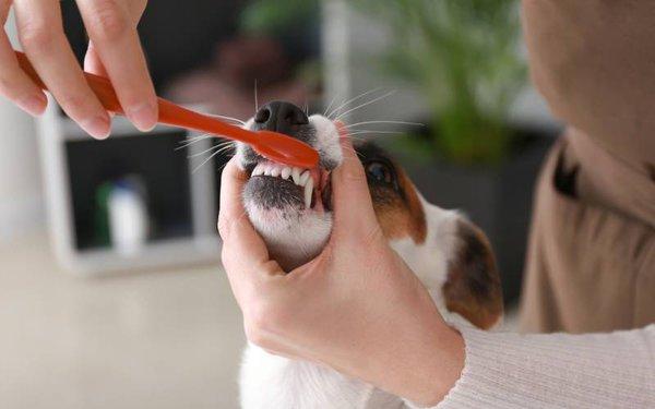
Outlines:
{"type": "MultiPolygon", "coordinates": [[[[250,146],[236,145],[250,178],[242,201],[271,256],[285,270],[315,257],[332,229],[330,173],[344,160],[337,125],[286,101],[261,107],[246,122],[296,137],[319,152],[319,166],[299,169],[272,163],[250,146]]],[[[500,277],[489,241],[462,214],[429,204],[403,168],[367,142],[355,146],[366,170],[377,218],[391,246],[428,288],[446,320],[478,328],[502,316],[500,277]]],[[[240,373],[240,401],[262,408],[398,408],[403,400],[336,371],[271,354],[249,344],[240,373]]]]}

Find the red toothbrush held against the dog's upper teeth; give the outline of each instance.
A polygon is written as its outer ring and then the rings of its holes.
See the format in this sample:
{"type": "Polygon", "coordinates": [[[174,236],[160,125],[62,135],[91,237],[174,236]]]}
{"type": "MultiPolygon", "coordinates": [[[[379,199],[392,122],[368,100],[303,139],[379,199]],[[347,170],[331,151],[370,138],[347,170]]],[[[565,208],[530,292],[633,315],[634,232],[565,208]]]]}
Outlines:
{"type": "MultiPolygon", "coordinates": [[[[46,85],[23,52],[15,51],[19,64],[25,73],[44,91],[46,85]]],[[[109,80],[85,72],[91,89],[108,111],[123,115],[116,92],[109,80]]],[[[164,98],[158,98],[159,123],[215,134],[221,137],[240,141],[252,146],[266,158],[301,168],[313,168],[319,163],[319,153],[303,142],[271,131],[249,131],[202,113],[194,112],[164,98]]]]}

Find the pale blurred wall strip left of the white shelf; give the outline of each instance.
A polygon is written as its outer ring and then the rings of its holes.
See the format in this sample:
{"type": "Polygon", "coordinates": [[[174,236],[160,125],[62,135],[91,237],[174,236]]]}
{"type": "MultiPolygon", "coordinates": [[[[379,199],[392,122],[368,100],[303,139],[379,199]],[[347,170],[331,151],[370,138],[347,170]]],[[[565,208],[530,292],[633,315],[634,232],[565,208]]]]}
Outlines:
{"type": "MultiPolygon", "coordinates": [[[[13,15],[5,29],[15,47],[13,15]]],[[[0,240],[34,230],[44,220],[34,119],[0,97],[0,240]]]]}

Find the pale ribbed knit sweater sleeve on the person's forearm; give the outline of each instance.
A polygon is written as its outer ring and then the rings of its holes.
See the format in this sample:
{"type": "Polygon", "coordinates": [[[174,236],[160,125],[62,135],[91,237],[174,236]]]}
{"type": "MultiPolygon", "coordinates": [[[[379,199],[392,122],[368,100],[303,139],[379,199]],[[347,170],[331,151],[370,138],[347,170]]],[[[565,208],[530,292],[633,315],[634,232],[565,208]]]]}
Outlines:
{"type": "Polygon", "coordinates": [[[655,325],[590,335],[455,327],[466,362],[434,409],[655,408],[655,325]]]}

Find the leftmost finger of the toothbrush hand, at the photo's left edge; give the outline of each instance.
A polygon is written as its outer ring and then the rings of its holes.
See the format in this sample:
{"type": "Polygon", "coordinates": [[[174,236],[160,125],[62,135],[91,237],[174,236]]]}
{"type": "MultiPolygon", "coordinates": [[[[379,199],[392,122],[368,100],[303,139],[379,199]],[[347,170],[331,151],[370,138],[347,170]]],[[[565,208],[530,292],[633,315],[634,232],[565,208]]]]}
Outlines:
{"type": "MultiPolygon", "coordinates": [[[[9,0],[0,0],[0,26],[4,26],[7,22],[9,5],[9,0]]],[[[9,37],[3,29],[0,29],[0,95],[33,116],[41,115],[48,105],[48,99],[19,67],[9,37]]]]}

